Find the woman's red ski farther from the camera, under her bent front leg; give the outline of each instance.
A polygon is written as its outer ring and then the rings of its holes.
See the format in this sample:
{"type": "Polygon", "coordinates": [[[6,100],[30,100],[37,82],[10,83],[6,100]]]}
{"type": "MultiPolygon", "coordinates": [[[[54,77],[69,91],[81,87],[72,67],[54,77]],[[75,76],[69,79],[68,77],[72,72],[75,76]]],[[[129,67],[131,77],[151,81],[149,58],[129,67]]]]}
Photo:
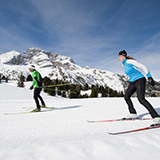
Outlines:
{"type": "Polygon", "coordinates": [[[108,120],[97,120],[97,121],[90,121],[87,120],[88,123],[102,123],[102,122],[118,122],[118,121],[143,121],[143,120],[152,120],[152,118],[136,118],[136,119],[126,119],[126,118],[119,118],[119,119],[108,119],[108,120]]]}

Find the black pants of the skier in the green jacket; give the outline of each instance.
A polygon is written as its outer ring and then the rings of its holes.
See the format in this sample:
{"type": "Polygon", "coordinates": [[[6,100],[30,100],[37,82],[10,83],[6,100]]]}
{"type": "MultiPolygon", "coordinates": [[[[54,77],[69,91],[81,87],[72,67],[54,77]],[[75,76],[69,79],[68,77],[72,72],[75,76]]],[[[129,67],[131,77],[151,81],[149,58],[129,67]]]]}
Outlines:
{"type": "Polygon", "coordinates": [[[38,98],[40,99],[41,104],[42,104],[42,105],[45,105],[45,103],[44,103],[44,101],[43,101],[43,98],[40,96],[41,91],[42,91],[42,88],[35,88],[35,89],[34,89],[34,96],[33,96],[33,98],[34,98],[34,100],[35,100],[35,102],[36,102],[36,105],[37,105],[37,108],[38,108],[38,109],[40,109],[40,105],[39,105],[39,100],[38,100],[38,98]]]}

